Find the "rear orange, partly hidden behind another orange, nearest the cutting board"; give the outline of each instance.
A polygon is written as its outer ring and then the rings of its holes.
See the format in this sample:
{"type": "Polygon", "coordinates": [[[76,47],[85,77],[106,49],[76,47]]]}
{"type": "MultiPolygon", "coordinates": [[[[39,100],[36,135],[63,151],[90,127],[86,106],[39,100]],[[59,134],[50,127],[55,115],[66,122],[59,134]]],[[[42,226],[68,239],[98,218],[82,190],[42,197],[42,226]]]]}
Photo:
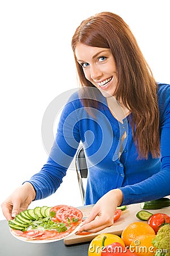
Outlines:
{"type": "Polygon", "coordinates": [[[123,230],[121,238],[126,246],[129,246],[135,238],[143,234],[155,235],[154,229],[151,228],[146,222],[132,222],[123,230]]]}

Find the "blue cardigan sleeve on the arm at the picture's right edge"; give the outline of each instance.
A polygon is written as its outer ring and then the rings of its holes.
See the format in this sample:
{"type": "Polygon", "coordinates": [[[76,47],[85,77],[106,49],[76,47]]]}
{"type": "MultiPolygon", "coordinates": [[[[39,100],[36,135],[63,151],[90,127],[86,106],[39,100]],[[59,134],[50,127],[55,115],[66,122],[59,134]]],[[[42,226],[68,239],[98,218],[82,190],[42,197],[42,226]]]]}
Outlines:
{"type": "Polygon", "coordinates": [[[160,110],[160,171],[146,180],[120,188],[123,205],[141,203],[170,195],[170,86],[162,85],[158,93],[160,110]]]}

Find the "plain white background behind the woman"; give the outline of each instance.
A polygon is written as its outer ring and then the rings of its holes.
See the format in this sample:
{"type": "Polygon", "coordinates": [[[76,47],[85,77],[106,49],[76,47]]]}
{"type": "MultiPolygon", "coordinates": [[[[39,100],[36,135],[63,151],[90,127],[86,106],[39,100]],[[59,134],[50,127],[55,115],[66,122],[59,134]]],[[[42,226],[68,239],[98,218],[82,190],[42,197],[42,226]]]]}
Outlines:
{"type": "MultiPolygon", "coordinates": [[[[2,0],[0,203],[46,162],[42,117],[57,95],[77,87],[71,38],[83,19],[101,11],[129,24],[155,79],[170,82],[168,0],[2,0]]],[[[54,195],[31,207],[57,204],[82,204],[74,170],[54,195]]]]}

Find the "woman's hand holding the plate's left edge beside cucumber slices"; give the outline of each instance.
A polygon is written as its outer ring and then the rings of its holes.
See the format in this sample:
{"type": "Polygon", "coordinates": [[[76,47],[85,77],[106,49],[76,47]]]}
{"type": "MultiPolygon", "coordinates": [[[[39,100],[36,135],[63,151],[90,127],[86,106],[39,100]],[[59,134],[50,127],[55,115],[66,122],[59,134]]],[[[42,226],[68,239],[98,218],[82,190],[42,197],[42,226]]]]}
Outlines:
{"type": "Polygon", "coordinates": [[[14,218],[17,214],[26,210],[28,205],[35,199],[36,192],[32,184],[25,182],[1,204],[3,215],[7,221],[14,218]]]}

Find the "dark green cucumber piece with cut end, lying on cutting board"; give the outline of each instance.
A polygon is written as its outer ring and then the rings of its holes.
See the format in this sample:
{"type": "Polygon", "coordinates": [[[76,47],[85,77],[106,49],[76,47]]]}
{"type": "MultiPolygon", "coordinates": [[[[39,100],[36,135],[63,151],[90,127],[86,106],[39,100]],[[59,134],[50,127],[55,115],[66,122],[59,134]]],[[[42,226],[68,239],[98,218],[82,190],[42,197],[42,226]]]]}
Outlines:
{"type": "Polygon", "coordinates": [[[140,205],[141,209],[145,209],[145,210],[156,210],[156,209],[161,209],[169,206],[170,206],[170,199],[167,197],[163,197],[163,198],[152,200],[152,201],[146,201],[141,203],[140,205]]]}

